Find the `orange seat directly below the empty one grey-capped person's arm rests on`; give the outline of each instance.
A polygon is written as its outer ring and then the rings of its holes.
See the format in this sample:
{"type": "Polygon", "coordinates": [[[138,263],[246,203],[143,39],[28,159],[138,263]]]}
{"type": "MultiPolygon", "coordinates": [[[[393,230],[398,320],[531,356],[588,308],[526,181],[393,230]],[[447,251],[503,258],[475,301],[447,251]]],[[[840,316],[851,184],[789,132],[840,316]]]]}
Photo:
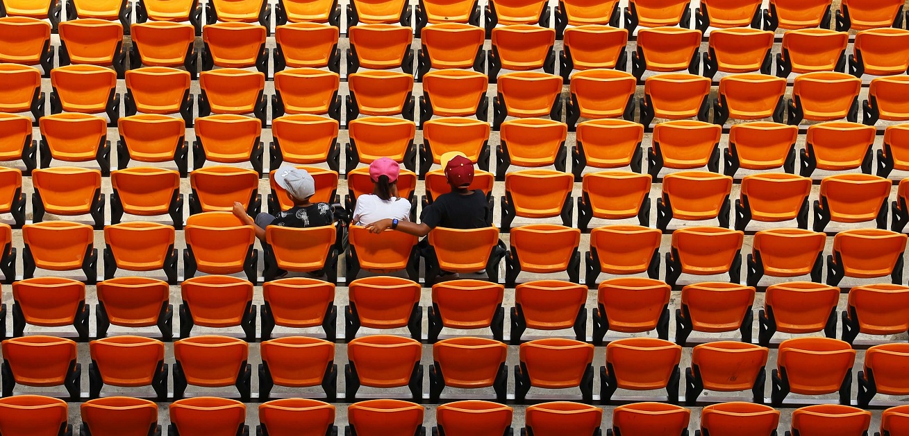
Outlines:
{"type": "Polygon", "coordinates": [[[180,337],[189,337],[194,325],[239,325],[246,340],[255,338],[253,284],[232,276],[199,276],[180,284],[180,337]]]}

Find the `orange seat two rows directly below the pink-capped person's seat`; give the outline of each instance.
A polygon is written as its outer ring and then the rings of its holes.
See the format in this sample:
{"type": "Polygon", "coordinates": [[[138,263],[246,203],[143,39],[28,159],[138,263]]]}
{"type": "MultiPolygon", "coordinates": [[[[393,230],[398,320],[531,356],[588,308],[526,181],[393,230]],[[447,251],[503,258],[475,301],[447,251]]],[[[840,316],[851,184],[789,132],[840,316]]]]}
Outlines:
{"type": "MultiPolygon", "coordinates": [[[[422,345],[414,339],[375,334],[347,344],[345,399],[356,398],[360,386],[395,388],[407,386],[414,398],[423,396],[422,345]]],[[[353,418],[353,417],[351,417],[353,418]]]]}

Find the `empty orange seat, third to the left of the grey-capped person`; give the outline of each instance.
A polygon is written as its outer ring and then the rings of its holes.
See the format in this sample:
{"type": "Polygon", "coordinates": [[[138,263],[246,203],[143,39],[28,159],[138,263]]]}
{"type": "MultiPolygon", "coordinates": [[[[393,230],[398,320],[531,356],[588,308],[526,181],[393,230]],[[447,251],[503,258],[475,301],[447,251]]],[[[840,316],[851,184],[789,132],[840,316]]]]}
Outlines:
{"type": "Polygon", "coordinates": [[[47,221],[22,227],[24,278],[35,276],[35,267],[52,271],[82,269],[86,283],[97,280],[95,237],[92,227],[70,221],[47,221]]]}

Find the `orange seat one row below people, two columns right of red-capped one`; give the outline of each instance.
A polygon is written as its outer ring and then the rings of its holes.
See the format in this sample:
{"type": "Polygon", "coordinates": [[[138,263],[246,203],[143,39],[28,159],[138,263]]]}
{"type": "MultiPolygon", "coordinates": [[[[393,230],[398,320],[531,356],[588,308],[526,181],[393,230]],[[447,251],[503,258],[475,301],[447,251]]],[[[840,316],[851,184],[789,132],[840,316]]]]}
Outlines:
{"type": "Polygon", "coordinates": [[[604,280],[597,290],[593,309],[594,344],[602,344],[609,331],[643,333],[656,331],[669,338],[670,286],[653,278],[620,277],[604,280]]]}

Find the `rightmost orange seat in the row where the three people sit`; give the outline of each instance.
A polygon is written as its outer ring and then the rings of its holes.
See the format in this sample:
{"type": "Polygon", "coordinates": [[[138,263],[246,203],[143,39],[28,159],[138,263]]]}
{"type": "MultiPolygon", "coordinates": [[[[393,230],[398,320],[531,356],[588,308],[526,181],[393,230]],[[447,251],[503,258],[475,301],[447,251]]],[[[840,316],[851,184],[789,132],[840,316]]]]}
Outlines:
{"type": "Polygon", "coordinates": [[[892,276],[902,283],[906,236],[888,230],[844,230],[834,237],[834,253],[827,256],[827,285],[836,286],[844,276],[892,276]]]}

